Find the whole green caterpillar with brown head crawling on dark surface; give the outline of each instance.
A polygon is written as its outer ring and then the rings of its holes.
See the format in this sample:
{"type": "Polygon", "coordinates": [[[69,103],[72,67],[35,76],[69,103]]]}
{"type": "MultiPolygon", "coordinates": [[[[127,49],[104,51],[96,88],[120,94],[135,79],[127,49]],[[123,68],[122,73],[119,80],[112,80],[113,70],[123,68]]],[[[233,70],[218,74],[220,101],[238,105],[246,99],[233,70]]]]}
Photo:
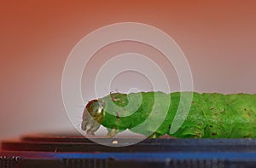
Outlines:
{"type": "Polygon", "coordinates": [[[82,130],[93,135],[100,125],[108,128],[109,136],[129,129],[151,137],[165,134],[198,138],[256,137],[256,95],[196,92],[114,93],[90,101],[84,108],[82,130]],[[193,99],[189,102],[188,116],[179,129],[172,133],[172,121],[179,115],[178,106],[181,104],[182,107],[181,94],[193,94],[193,99]],[[144,124],[147,119],[150,121],[144,124]]]}

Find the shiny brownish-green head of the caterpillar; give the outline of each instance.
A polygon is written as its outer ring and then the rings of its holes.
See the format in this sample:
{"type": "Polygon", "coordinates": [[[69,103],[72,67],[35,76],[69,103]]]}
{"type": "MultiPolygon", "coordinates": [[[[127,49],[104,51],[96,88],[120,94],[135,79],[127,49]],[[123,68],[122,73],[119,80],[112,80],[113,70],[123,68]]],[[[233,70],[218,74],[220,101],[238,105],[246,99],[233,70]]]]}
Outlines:
{"type": "Polygon", "coordinates": [[[94,135],[96,130],[100,128],[103,117],[103,103],[98,100],[89,101],[84,108],[81,129],[85,130],[88,135],[94,135]]]}

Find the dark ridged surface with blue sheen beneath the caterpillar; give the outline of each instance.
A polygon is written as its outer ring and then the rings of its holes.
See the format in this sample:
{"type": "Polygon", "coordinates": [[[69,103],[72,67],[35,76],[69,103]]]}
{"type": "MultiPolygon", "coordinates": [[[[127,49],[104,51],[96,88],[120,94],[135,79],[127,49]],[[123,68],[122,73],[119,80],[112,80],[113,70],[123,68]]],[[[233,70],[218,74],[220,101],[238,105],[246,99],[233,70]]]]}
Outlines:
{"type": "Polygon", "coordinates": [[[2,142],[0,167],[256,167],[256,139],[146,139],[108,147],[84,136],[31,135],[2,142]]]}

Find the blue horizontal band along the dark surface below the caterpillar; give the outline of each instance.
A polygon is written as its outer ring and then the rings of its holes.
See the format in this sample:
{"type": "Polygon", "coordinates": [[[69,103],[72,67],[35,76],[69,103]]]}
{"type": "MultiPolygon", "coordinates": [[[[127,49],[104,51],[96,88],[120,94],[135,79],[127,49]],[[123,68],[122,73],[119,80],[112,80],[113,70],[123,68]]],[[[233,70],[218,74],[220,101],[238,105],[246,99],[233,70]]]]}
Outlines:
{"type": "Polygon", "coordinates": [[[102,153],[102,154],[81,154],[81,153],[58,153],[46,154],[53,158],[67,158],[67,159],[249,159],[256,160],[256,153],[102,153]]]}

